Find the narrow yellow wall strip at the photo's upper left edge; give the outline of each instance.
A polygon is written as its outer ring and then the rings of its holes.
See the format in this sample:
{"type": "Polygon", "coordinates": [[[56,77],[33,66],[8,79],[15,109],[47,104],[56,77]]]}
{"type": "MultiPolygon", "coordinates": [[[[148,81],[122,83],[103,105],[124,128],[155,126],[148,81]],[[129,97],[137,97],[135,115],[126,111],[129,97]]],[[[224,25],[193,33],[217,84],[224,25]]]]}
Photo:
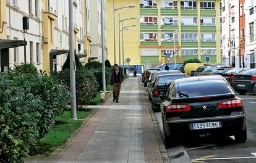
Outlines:
{"type": "Polygon", "coordinates": [[[0,38],[6,39],[6,0],[0,0],[0,38]]]}

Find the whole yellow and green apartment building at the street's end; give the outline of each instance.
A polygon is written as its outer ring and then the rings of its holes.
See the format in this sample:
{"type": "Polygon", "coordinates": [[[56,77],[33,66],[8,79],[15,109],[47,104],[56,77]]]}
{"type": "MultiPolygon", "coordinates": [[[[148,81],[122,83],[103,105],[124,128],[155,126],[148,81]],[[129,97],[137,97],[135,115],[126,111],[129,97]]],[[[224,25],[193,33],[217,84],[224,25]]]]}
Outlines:
{"type": "MultiPolygon", "coordinates": [[[[146,61],[162,64],[168,62],[166,55],[171,57],[170,63],[174,62],[174,55],[177,63],[194,58],[208,63],[222,62],[220,0],[119,0],[115,4],[116,7],[135,5],[133,9],[117,12],[122,19],[137,17],[135,21],[126,21],[126,25],[137,26],[124,34],[124,58],[129,57],[130,64],[147,64],[146,61]]],[[[113,62],[113,0],[108,0],[107,6],[108,59],[113,62]]],[[[116,45],[119,46],[118,41],[116,45]]]]}

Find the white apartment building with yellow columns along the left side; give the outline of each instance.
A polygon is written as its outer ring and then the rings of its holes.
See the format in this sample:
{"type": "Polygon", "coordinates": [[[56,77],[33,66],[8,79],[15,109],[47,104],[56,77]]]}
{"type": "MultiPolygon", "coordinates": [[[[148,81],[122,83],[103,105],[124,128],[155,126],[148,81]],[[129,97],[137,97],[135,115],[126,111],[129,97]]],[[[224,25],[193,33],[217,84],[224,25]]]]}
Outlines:
{"type": "MultiPolygon", "coordinates": [[[[61,70],[69,51],[69,1],[1,0],[0,6],[0,38],[25,40],[27,44],[8,49],[8,67],[27,62],[46,72],[61,70]],[[23,17],[28,17],[28,30],[23,30],[23,17]]],[[[75,53],[87,63],[91,41],[89,2],[74,0],[73,7],[75,53]]]]}

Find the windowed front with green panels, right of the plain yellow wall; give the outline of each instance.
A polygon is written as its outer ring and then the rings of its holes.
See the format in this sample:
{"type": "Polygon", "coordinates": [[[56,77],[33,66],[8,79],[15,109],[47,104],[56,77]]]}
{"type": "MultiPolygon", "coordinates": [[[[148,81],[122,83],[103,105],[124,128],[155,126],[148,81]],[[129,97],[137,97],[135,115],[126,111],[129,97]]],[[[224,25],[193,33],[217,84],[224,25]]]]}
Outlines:
{"type": "Polygon", "coordinates": [[[221,0],[140,0],[142,64],[161,64],[166,54],[221,63],[220,9],[221,0]]]}

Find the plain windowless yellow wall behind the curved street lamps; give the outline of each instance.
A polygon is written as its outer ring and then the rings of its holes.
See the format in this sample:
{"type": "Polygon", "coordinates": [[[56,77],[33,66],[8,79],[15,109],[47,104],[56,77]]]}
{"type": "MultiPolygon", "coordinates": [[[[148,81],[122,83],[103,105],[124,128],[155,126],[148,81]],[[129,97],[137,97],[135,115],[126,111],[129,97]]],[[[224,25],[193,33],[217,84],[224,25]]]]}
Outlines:
{"type": "MultiPolygon", "coordinates": [[[[140,64],[140,1],[134,0],[115,0],[115,9],[119,7],[130,6],[134,4],[134,8],[116,10],[116,63],[119,64],[119,36],[118,36],[118,14],[120,14],[120,20],[136,17],[135,20],[124,21],[124,27],[129,25],[136,25],[136,27],[130,27],[129,30],[124,31],[124,59],[130,58],[130,65],[140,64]]],[[[106,40],[108,47],[108,60],[111,65],[114,64],[114,15],[113,15],[113,0],[106,1],[107,14],[106,14],[106,40]]],[[[121,33],[121,65],[122,65],[122,33],[121,33]]]]}

